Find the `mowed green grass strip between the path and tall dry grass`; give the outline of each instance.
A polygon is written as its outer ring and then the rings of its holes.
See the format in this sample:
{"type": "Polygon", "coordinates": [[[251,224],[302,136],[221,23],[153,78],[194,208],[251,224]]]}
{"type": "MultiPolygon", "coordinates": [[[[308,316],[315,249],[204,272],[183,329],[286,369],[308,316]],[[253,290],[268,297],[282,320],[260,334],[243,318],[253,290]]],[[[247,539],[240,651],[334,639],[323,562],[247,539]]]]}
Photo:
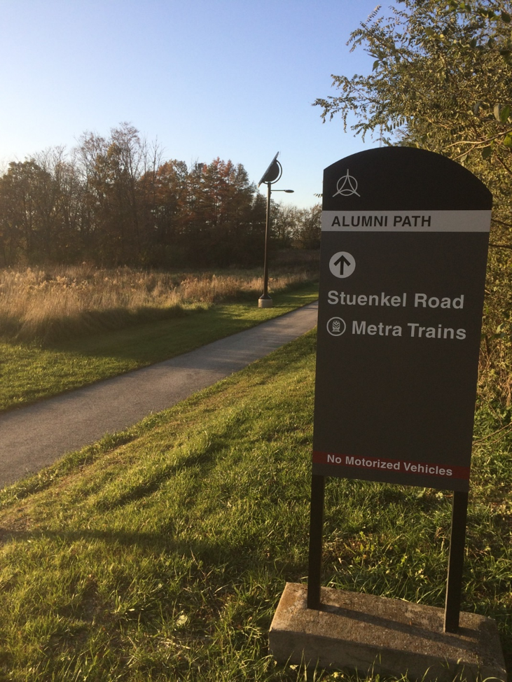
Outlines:
{"type": "Polygon", "coordinates": [[[318,298],[318,284],[258,301],[196,307],[184,316],[41,347],[0,342],[0,411],[167,360],[318,298]]]}

